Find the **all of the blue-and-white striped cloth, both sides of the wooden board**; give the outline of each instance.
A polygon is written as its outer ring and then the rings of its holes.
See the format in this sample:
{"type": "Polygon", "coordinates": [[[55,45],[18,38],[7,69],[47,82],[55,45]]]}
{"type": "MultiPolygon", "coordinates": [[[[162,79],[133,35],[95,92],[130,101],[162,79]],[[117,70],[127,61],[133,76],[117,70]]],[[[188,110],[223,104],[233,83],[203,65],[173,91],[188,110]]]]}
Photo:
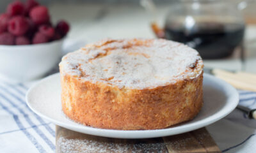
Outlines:
{"type": "MultiPolygon", "coordinates": [[[[55,152],[55,126],[28,108],[27,90],[0,81],[0,152],[55,152]]],[[[239,94],[240,104],[256,108],[256,92],[239,94]]],[[[239,110],[207,129],[223,152],[256,152],[256,121],[239,110]]]]}

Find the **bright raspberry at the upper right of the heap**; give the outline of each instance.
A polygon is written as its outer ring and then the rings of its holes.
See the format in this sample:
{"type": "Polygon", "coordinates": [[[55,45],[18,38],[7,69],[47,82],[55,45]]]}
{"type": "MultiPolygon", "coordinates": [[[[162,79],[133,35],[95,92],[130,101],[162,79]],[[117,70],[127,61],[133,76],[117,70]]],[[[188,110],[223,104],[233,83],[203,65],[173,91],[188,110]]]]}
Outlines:
{"type": "Polygon", "coordinates": [[[45,6],[35,6],[29,12],[29,17],[36,25],[47,24],[50,20],[48,9],[45,6]]]}

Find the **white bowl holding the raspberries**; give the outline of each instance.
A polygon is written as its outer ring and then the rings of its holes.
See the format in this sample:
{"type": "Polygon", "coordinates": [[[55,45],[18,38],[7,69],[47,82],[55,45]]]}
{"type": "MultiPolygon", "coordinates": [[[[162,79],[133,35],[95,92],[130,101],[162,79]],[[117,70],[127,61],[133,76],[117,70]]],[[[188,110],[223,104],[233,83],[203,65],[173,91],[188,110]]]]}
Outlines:
{"type": "Polygon", "coordinates": [[[61,57],[63,39],[36,45],[0,45],[0,77],[25,82],[42,77],[61,57]]]}

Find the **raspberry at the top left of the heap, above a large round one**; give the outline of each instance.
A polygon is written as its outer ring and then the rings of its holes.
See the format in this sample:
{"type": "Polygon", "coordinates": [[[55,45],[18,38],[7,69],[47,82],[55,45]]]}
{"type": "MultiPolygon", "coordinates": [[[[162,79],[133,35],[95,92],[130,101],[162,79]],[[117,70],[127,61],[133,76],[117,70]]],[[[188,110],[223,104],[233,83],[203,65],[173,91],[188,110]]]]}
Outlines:
{"type": "Polygon", "coordinates": [[[8,15],[24,15],[25,7],[20,1],[15,1],[13,3],[8,4],[6,12],[8,15]]]}

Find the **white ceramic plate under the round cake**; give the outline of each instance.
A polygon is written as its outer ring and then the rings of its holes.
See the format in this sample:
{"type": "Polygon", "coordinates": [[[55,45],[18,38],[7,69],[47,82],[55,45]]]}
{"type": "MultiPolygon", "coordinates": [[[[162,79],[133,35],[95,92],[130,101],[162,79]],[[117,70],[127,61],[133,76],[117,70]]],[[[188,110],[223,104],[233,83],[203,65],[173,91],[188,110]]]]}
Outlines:
{"type": "Polygon", "coordinates": [[[61,111],[60,95],[60,74],[58,73],[44,78],[31,87],[26,95],[26,101],[31,110],[58,126],[80,133],[110,138],[154,138],[193,131],[225,117],[236,108],[239,101],[234,87],[218,78],[205,74],[204,106],[195,119],[172,128],[124,131],[92,128],[73,122],[65,117],[61,111]]]}

